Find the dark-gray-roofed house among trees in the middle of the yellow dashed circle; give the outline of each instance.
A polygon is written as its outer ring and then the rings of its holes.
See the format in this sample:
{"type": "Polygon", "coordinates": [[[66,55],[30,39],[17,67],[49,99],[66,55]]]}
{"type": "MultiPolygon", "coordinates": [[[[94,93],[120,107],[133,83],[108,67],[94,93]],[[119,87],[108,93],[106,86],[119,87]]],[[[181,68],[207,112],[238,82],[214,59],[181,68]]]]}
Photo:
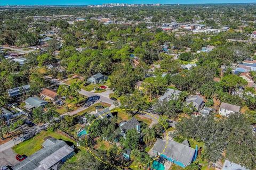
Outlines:
{"type": "Polygon", "coordinates": [[[137,132],[140,133],[140,123],[135,117],[132,117],[129,121],[121,122],[119,124],[119,128],[121,129],[121,135],[124,138],[125,138],[125,133],[131,129],[136,129],[137,132]]]}

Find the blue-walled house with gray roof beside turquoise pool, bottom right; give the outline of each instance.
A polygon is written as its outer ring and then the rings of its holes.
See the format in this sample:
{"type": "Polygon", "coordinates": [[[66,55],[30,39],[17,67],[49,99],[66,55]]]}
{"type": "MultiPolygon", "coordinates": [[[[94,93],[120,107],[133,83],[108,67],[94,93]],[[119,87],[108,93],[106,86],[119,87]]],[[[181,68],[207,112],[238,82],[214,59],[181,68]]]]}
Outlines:
{"type": "Polygon", "coordinates": [[[196,149],[193,149],[189,147],[188,142],[183,141],[182,143],[171,139],[168,142],[157,139],[152,150],[155,155],[184,168],[196,160],[197,146],[196,149]]]}

